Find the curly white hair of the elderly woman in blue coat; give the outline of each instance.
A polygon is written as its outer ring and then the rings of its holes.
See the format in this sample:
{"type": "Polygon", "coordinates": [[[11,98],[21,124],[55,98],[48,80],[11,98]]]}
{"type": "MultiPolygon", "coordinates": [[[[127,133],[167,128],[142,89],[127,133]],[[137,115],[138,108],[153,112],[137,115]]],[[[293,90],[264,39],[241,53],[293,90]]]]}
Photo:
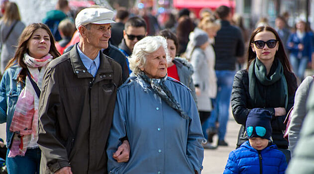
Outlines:
{"type": "Polygon", "coordinates": [[[135,76],[141,71],[140,68],[146,64],[146,56],[157,51],[161,46],[165,49],[167,63],[171,62],[166,38],[162,36],[146,36],[136,42],[132,55],[128,57],[130,69],[135,76]]]}

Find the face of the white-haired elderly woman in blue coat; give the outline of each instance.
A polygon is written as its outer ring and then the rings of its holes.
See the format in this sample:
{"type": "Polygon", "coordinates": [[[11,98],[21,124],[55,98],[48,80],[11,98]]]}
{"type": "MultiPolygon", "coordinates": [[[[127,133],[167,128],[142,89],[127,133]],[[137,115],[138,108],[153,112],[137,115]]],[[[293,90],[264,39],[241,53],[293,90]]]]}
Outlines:
{"type": "Polygon", "coordinates": [[[166,76],[167,67],[165,49],[161,46],[157,51],[146,56],[146,63],[140,70],[151,79],[160,79],[166,76]]]}

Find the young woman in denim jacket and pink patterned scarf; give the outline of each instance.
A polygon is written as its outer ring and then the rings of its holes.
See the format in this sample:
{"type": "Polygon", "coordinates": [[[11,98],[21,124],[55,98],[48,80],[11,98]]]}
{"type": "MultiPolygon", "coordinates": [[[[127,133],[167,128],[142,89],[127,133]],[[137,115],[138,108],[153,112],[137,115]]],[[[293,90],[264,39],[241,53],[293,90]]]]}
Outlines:
{"type": "Polygon", "coordinates": [[[46,66],[58,56],[49,28],[33,23],[23,30],[15,55],[5,68],[0,83],[0,123],[6,122],[9,174],[39,174],[39,98],[31,81],[41,88],[46,66]]]}

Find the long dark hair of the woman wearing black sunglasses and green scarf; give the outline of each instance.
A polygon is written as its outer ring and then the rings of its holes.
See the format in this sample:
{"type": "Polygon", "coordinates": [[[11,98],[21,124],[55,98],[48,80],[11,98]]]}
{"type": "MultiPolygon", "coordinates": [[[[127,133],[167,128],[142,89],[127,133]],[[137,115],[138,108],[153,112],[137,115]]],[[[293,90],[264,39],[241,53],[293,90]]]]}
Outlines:
{"type": "Polygon", "coordinates": [[[285,49],[284,49],[284,45],[283,45],[283,43],[282,43],[282,41],[281,41],[277,31],[274,28],[270,27],[270,26],[260,26],[260,27],[257,27],[252,32],[252,35],[251,35],[251,38],[250,38],[250,42],[249,42],[248,51],[247,51],[248,59],[247,59],[246,70],[247,71],[249,70],[249,67],[250,67],[251,63],[256,58],[256,53],[253,52],[253,50],[251,48],[251,44],[254,42],[255,35],[257,33],[259,33],[259,32],[262,32],[262,31],[270,31],[270,32],[274,33],[274,35],[276,36],[276,40],[278,40],[279,47],[278,47],[278,51],[275,54],[275,59],[278,59],[280,61],[280,63],[282,64],[283,68],[284,68],[284,75],[285,75],[286,80],[288,82],[288,91],[289,91],[289,93],[295,92],[295,89],[298,86],[297,86],[297,83],[293,83],[295,81],[293,78],[296,78],[296,77],[290,75],[290,74],[293,74],[293,73],[292,73],[292,70],[291,70],[291,65],[290,65],[289,59],[288,59],[287,54],[286,54],[285,49]]]}

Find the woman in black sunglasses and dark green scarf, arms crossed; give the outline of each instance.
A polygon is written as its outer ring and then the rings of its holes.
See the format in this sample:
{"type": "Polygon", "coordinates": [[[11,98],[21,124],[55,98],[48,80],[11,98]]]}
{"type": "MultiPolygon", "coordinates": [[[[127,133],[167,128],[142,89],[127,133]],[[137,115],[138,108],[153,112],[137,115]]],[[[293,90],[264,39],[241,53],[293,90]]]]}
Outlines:
{"type": "Polygon", "coordinates": [[[242,124],[237,148],[247,140],[245,122],[251,109],[264,108],[272,115],[273,142],[279,149],[288,149],[284,120],[294,104],[297,79],[275,29],[256,28],[249,44],[247,69],[236,73],[231,93],[233,116],[242,124]]]}

